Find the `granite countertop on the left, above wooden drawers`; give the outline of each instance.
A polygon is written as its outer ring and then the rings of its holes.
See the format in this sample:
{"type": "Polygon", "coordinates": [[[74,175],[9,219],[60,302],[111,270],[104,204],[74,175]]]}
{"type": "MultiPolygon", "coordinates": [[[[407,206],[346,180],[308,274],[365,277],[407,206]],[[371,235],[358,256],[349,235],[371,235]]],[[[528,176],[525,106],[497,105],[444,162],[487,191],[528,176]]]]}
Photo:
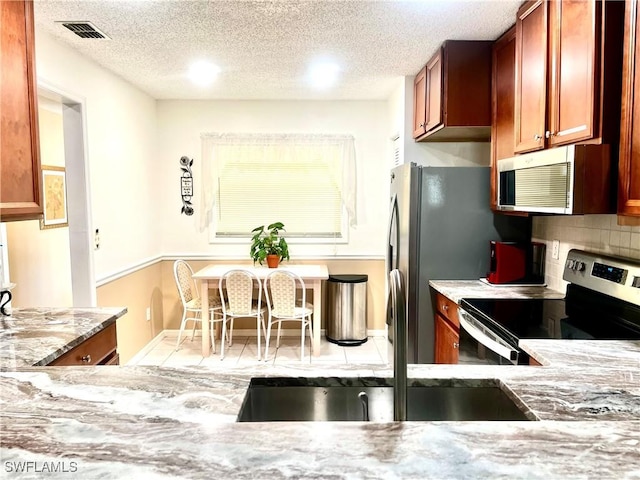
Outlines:
{"type": "Polygon", "coordinates": [[[0,371],[47,365],[108,327],[126,308],[15,308],[0,316],[0,371]]]}

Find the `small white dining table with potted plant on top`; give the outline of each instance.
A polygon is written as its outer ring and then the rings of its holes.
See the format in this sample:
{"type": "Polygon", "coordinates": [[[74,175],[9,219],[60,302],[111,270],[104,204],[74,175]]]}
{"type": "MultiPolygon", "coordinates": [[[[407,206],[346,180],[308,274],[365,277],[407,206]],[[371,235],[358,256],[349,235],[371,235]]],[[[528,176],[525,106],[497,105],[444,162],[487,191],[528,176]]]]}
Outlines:
{"type": "MultiPolygon", "coordinates": [[[[249,270],[259,280],[264,280],[273,271],[272,268],[252,265],[208,265],[193,274],[193,278],[200,281],[200,298],[202,303],[202,317],[208,318],[209,289],[217,288],[222,276],[229,270],[249,270]]],[[[320,354],[320,322],[322,319],[322,281],[329,278],[329,270],[326,265],[280,265],[280,270],[288,270],[296,273],[304,281],[305,288],[313,290],[313,348],[314,356],[320,354]]],[[[211,341],[209,338],[209,322],[202,322],[202,356],[211,355],[211,341]]]]}

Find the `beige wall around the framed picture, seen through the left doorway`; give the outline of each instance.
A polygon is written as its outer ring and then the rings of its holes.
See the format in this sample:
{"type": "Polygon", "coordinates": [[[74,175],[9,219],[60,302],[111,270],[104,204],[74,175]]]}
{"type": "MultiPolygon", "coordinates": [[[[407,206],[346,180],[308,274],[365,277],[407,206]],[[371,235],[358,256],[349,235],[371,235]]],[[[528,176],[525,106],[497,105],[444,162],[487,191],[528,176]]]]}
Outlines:
{"type": "MultiPolygon", "coordinates": [[[[62,106],[40,97],[38,119],[42,165],[64,167],[62,106]]],[[[72,305],[67,226],[40,230],[39,220],[8,222],[7,245],[14,307],[72,305]]]]}

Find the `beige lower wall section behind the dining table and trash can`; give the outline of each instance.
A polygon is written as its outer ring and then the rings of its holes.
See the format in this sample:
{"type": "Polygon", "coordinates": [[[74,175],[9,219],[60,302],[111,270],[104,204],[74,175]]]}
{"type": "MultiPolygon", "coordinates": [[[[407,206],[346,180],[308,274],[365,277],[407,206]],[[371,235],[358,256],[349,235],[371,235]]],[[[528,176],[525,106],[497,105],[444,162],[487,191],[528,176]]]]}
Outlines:
{"type": "MultiPolygon", "coordinates": [[[[194,271],[210,265],[212,263],[225,263],[223,261],[197,260],[189,261],[194,271]]],[[[242,262],[234,262],[241,264],[242,262]]],[[[245,262],[251,265],[250,261],[245,262]]],[[[289,262],[287,262],[289,263],[289,262]]],[[[325,263],[330,274],[366,274],[369,275],[367,282],[367,328],[370,330],[383,330],[385,328],[385,306],[386,306],[386,270],[384,260],[305,260],[290,262],[289,264],[310,264],[325,263]]],[[[168,330],[178,329],[182,316],[182,306],[178,290],[173,278],[173,261],[162,262],[162,284],[163,288],[163,310],[164,328],[168,330]]],[[[238,321],[234,328],[250,329],[255,328],[255,323],[250,320],[238,321]]],[[[324,328],[324,321],[322,322],[324,328]]]]}

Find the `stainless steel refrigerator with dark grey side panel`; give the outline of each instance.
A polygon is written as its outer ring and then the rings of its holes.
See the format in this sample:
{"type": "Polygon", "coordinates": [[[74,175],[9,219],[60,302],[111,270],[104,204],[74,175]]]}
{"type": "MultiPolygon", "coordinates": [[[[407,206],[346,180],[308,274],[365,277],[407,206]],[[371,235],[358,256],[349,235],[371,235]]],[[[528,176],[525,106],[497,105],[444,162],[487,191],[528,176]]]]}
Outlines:
{"type": "MultiPolygon", "coordinates": [[[[489,182],[489,167],[411,163],[391,171],[387,274],[397,268],[404,280],[409,363],[434,361],[429,280],[486,277],[491,240],[531,239],[529,218],[491,211],[489,182]]],[[[389,310],[387,324],[393,341],[389,310]]]]}

